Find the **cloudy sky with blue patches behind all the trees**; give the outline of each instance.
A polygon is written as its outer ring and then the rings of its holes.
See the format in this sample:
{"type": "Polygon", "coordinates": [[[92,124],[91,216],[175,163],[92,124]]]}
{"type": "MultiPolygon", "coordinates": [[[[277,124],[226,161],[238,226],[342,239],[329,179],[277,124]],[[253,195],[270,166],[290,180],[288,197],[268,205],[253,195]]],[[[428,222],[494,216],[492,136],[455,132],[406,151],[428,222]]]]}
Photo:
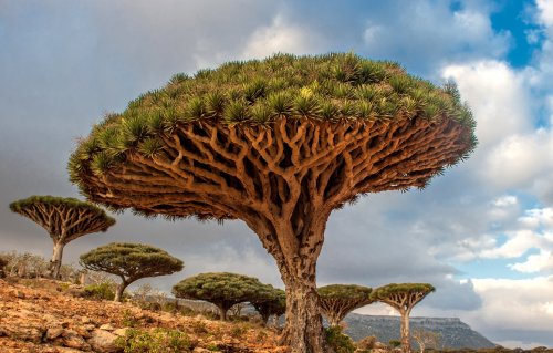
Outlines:
{"type": "MultiPolygon", "coordinates": [[[[457,316],[504,346],[553,346],[553,0],[0,0],[0,251],[50,257],[44,230],[8,205],[81,197],[69,155],[105,113],[175,73],[337,51],[455,81],[479,146],[424,190],[334,211],[317,284],[429,282],[437,291],[411,315],[457,316]]],[[[146,242],[185,270],[139,283],[168,291],[231,271],[283,287],[241,221],[116,218],[108,232],[67,245],[64,261],[112,241],[146,242]]]]}

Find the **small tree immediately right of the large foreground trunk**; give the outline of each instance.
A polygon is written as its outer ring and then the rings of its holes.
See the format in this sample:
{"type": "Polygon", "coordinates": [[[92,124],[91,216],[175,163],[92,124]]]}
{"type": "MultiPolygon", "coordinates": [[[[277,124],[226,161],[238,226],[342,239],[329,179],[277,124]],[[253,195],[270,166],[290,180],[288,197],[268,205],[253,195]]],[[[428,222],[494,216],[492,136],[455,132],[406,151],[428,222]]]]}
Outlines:
{"type": "Polygon", "coordinates": [[[321,310],[331,326],[340,325],[345,315],[373,302],[372,288],[355,284],[331,284],[317,289],[321,310]]]}

